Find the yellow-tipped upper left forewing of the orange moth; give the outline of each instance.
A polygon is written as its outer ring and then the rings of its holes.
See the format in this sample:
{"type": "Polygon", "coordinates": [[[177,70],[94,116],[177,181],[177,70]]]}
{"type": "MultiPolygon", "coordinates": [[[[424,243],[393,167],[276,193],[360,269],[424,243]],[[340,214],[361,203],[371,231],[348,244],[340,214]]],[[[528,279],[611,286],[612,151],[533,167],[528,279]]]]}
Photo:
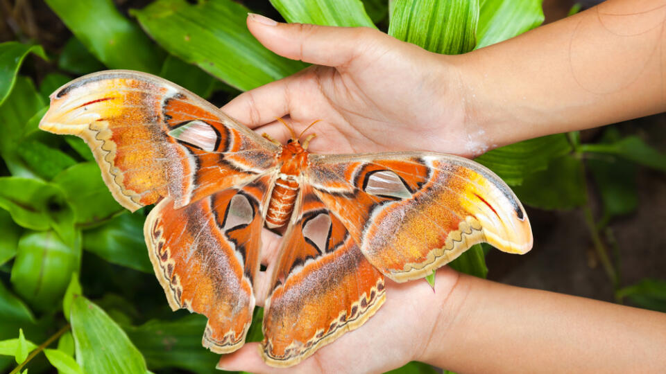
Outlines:
{"type": "Polygon", "coordinates": [[[40,128],[83,138],[117,201],[130,209],[169,196],[177,207],[252,181],[278,145],[154,75],[102,71],[51,95],[40,128]]]}

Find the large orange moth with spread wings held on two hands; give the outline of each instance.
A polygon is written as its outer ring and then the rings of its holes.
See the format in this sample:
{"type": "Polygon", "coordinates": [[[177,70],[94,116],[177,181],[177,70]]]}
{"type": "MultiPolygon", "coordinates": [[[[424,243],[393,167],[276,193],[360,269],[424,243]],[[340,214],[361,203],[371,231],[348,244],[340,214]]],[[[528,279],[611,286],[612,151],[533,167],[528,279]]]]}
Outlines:
{"type": "Polygon", "coordinates": [[[370,318],[385,277],[422,278],[472,244],[531,249],[508,186],[447,154],[311,154],[259,136],[146,73],[85,75],[51,95],[40,128],[85,139],[113,196],[156,204],[144,235],[173,310],[205,314],[203,345],[244,344],[260,232],[287,225],[272,267],[262,354],[290,366],[370,318]]]}

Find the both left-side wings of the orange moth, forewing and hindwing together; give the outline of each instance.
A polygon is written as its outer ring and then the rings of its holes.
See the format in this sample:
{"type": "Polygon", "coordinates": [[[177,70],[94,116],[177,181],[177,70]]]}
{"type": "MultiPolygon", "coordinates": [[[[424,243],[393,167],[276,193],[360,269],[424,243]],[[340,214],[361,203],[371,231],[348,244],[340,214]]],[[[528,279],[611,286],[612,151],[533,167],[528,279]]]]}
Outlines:
{"type": "Polygon", "coordinates": [[[169,305],[208,317],[204,346],[239,348],[279,147],[182,87],[134,71],[66,84],[40,127],[87,141],[126,208],[157,203],[144,235],[169,305]]]}

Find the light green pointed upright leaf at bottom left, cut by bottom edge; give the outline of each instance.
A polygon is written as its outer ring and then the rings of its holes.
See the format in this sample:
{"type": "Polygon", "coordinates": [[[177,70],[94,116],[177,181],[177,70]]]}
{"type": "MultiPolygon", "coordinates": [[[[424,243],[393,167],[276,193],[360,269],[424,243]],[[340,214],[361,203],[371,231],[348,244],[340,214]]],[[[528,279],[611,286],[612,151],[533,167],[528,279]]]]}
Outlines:
{"type": "Polygon", "coordinates": [[[146,361],[126,333],[83,296],[71,305],[71,330],[85,373],[146,373],[146,361]]]}

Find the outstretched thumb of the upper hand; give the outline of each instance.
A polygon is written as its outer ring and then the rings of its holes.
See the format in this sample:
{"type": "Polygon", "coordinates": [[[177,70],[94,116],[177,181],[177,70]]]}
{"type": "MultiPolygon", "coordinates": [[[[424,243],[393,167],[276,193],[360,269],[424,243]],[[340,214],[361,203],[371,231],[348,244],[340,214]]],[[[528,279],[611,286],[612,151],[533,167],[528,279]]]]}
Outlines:
{"type": "Polygon", "coordinates": [[[392,39],[367,27],[282,24],[254,13],[248,14],[247,23],[250,33],[278,55],[325,66],[349,64],[368,44],[392,39]]]}

